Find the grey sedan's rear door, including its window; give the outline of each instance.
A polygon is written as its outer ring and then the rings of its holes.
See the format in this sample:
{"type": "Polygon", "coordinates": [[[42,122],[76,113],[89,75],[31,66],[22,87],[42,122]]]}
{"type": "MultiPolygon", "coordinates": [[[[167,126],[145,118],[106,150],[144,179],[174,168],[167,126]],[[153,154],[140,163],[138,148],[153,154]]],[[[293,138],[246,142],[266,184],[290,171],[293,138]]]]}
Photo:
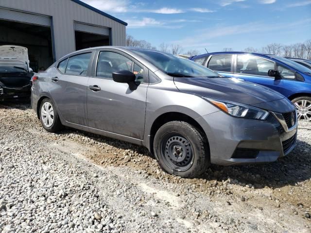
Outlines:
{"type": "Polygon", "coordinates": [[[50,77],[52,98],[69,123],[87,126],[86,89],[94,53],[87,51],[62,60],[57,65],[58,72],[50,77]]]}

